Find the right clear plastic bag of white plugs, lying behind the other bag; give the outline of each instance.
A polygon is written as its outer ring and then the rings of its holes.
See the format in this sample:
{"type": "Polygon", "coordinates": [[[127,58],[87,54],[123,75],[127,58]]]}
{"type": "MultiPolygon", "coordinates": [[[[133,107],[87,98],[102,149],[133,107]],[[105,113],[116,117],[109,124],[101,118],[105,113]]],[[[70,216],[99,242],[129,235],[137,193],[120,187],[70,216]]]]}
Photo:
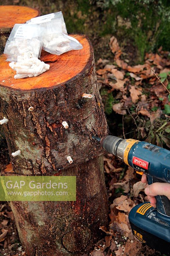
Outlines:
{"type": "Polygon", "coordinates": [[[60,55],[64,52],[83,48],[74,37],[67,35],[62,12],[55,12],[33,18],[27,21],[27,23],[36,23],[44,28],[42,49],[46,52],[60,55]]]}

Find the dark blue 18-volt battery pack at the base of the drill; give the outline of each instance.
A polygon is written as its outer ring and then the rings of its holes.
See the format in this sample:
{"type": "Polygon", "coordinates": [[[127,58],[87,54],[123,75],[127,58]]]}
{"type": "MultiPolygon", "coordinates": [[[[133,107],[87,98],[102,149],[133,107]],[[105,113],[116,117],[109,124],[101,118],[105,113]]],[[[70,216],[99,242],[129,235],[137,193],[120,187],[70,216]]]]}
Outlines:
{"type": "Polygon", "coordinates": [[[145,202],[131,209],[129,222],[133,235],[139,241],[170,256],[170,217],[160,214],[145,202]]]}

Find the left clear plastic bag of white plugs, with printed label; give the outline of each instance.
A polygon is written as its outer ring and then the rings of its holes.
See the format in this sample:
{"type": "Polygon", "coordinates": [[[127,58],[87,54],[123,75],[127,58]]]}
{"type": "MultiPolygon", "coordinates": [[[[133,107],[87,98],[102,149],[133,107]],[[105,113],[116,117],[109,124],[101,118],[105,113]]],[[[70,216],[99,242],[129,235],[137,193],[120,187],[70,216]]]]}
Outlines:
{"type": "Polygon", "coordinates": [[[37,24],[15,24],[4,49],[6,61],[16,62],[17,57],[26,52],[32,52],[33,57],[40,57],[43,30],[37,24]]]}

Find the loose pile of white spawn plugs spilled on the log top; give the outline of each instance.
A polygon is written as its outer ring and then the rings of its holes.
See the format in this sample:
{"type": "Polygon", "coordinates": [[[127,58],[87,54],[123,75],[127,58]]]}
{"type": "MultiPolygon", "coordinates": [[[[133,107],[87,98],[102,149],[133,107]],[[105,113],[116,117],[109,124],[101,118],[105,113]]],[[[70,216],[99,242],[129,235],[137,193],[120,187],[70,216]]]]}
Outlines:
{"type": "Polygon", "coordinates": [[[32,52],[26,52],[17,57],[17,62],[11,62],[9,66],[17,72],[15,79],[39,76],[50,68],[49,64],[44,63],[37,57],[33,57],[32,52]]]}

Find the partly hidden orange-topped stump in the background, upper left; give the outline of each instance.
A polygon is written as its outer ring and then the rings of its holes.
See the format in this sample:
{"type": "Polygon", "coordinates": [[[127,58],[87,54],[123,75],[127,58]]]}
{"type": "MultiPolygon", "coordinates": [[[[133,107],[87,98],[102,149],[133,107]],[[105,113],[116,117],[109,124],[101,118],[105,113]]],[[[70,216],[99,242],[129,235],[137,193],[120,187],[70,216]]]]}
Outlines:
{"type": "Polygon", "coordinates": [[[6,41],[16,23],[25,23],[31,18],[39,16],[39,11],[17,5],[0,6],[0,54],[4,52],[6,41]]]}

